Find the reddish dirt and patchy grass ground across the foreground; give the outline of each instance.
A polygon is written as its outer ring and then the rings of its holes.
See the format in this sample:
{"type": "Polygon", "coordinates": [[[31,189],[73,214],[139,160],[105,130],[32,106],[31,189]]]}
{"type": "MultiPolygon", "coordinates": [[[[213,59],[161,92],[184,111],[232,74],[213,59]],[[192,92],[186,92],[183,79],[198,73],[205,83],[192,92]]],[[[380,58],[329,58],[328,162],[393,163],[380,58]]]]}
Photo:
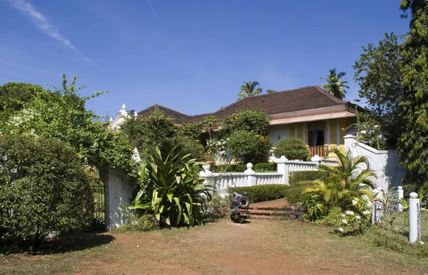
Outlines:
{"type": "Polygon", "coordinates": [[[427,259],[331,227],[228,219],[193,229],[83,234],[74,251],[1,257],[0,274],[426,274],[427,259]]]}

